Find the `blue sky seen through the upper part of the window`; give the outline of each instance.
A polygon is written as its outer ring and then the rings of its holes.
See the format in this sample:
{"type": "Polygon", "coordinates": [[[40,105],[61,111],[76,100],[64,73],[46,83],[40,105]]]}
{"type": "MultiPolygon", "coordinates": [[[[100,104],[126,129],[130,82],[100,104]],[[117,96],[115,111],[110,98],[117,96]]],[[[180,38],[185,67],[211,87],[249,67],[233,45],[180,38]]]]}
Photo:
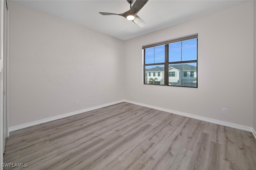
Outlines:
{"type": "MultiPolygon", "coordinates": [[[[145,64],[164,63],[164,45],[151,47],[145,51],[145,64]]],[[[197,60],[197,39],[169,44],[169,62],[190,60],[197,60]]],[[[196,66],[196,63],[190,64],[196,66]]],[[[155,66],[150,66],[152,67],[155,66]]]]}

